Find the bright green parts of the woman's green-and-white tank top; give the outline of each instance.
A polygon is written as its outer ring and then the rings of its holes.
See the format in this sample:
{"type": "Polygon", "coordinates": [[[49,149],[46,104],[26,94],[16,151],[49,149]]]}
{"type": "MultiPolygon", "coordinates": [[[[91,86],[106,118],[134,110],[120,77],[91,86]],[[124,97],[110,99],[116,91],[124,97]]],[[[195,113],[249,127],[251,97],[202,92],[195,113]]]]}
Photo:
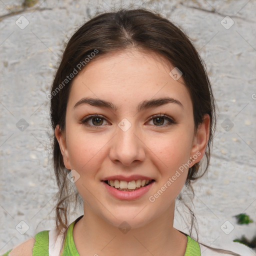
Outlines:
{"type": "MultiPolygon", "coordinates": [[[[66,237],[64,240],[64,246],[61,256],[79,256],[77,249],[73,240],[73,226],[75,222],[78,220],[74,220],[67,228],[66,237]]],[[[48,245],[49,245],[49,230],[43,230],[37,233],[34,236],[35,242],[33,246],[33,256],[49,256],[48,245]]],[[[200,247],[198,242],[192,239],[189,235],[186,234],[187,244],[184,256],[200,256],[200,247]]],[[[7,251],[2,256],[8,256],[9,252],[7,251]]]]}

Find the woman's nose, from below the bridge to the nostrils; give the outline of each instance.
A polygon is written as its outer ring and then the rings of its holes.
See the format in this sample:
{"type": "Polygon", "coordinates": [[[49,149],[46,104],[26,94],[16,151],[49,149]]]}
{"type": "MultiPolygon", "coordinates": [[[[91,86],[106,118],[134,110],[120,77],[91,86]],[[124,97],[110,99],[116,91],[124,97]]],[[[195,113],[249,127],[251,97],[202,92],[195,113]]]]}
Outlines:
{"type": "Polygon", "coordinates": [[[146,146],[135,125],[131,125],[127,130],[117,126],[111,143],[109,157],[113,162],[129,166],[133,162],[144,161],[146,146]]]}

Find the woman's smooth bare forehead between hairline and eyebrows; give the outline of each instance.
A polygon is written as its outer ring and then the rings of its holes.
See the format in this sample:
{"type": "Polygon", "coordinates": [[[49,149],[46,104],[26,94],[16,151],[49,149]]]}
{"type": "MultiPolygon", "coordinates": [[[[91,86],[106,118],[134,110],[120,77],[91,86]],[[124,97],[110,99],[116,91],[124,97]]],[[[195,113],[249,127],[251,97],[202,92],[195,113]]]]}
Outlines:
{"type": "Polygon", "coordinates": [[[192,106],[182,76],[174,80],[174,68],[155,52],[126,49],[105,54],[88,62],[73,79],[68,101],[74,105],[81,97],[98,97],[137,104],[142,99],[170,96],[185,107],[192,106]]]}

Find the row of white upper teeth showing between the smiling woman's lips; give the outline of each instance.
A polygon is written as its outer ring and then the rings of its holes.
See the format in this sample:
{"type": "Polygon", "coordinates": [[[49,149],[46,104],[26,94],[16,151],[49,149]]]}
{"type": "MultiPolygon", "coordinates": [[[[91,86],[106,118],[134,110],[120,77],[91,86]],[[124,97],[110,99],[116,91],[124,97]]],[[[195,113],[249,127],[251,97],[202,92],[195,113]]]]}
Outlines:
{"type": "Polygon", "coordinates": [[[119,190],[119,191],[135,191],[140,189],[141,187],[145,187],[153,182],[154,179],[137,179],[131,181],[125,180],[102,180],[107,185],[119,190]]]}

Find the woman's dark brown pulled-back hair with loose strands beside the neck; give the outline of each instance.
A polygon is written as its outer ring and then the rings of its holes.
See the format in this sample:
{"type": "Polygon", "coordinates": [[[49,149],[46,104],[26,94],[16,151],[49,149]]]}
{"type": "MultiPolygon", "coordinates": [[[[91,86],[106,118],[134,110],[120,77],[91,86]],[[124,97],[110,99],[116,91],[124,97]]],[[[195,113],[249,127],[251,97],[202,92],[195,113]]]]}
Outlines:
{"type": "MultiPolygon", "coordinates": [[[[195,130],[202,122],[204,114],[210,116],[205,167],[199,171],[201,163],[195,163],[189,168],[185,181],[185,186],[192,190],[191,181],[201,177],[209,164],[210,144],[215,129],[214,98],[202,60],[188,37],[172,22],[157,13],[144,8],[101,13],[85,22],[71,36],[52,83],[50,101],[52,128],[59,124],[61,130],[65,129],[66,104],[72,84],[71,79],[65,80],[66,76],[72,73],[74,68],[78,69],[79,63],[83,63],[82,67],[86,66],[86,57],[93,56],[89,61],[94,61],[104,54],[131,47],[148,52],[154,51],[181,70],[192,100],[195,130]],[[96,50],[97,54],[93,55],[92,52],[96,50]]],[[[54,172],[59,188],[55,214],[56,226],[60,231],[62,228],[67,229],[69,201],[75,201],[76,205],[79,195],[77,191],[74,194],[70,193],[71,187],[74,187],[66,178],[70,170],[67,170],[63,164],[56,137],[54,136],[53,139],[54,172]]],[[[193,220],[192,214],[191,229],[193,220]]]]}

